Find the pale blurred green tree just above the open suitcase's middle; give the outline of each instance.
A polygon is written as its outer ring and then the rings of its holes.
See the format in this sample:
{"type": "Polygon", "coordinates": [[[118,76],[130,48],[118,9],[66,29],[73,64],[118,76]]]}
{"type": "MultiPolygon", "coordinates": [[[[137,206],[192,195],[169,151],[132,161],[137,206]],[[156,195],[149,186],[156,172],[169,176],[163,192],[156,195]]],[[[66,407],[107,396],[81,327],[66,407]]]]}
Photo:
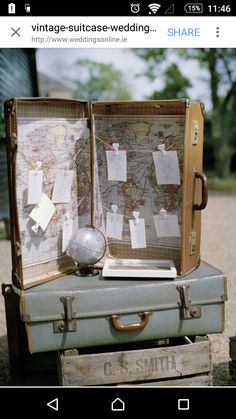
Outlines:
{"type": "Polygon", "coordinates": [[[123,74],[113,65],[87,59],[78,60],[75,65],[79,75],[74,80],[75,98],[91,101],[131,99],[123,74]]]}

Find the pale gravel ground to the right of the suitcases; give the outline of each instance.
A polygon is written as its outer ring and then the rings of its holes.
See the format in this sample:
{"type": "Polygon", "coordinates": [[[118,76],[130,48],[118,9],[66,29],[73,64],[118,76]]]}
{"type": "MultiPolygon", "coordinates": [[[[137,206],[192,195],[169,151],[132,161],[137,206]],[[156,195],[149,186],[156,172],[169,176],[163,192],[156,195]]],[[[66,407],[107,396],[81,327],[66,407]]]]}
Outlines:
{"type": "Polygon", "coordinates": [[[201,256],[227,276],[228,301],[225,305],[225,331],[211,335],[214,365],[213,384],[229,385],[229,336],[236,334],[236,197],[209,198],[202,213],[201,256]]]}

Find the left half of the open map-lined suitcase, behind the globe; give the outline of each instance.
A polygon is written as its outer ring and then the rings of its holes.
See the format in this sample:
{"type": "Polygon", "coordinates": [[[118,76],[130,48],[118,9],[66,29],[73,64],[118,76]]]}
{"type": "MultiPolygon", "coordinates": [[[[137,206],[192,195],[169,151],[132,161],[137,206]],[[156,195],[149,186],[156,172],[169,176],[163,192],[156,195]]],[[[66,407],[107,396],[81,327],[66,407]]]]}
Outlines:
{"type": "Polygon", "coordinates": [[[75,270],[62,245],[63,223],[91,224],[89,110],[86,101],[16,98],[5,102],[11,210],[13,283],[27,288],[75,270]],[[78,175],[78,167],[80,176],[78,175]],[[29,172],[42,175],[42,194],[52,200],[58,172],[72,174],[69,202],[55,201],[47,226],[30,217],[29,172]],[[82,185],[83,183],[83,185],[82,185]],[[28,196],[28,197],[27,197],[28,196]]]}

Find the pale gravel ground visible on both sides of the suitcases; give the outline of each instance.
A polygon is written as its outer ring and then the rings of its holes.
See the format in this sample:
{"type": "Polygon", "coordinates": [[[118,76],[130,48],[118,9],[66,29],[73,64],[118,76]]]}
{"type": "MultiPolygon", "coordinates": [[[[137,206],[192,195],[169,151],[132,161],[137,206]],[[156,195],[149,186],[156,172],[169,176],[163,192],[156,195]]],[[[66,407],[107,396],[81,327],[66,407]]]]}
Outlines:
{"type": "MultiPolygon", "coordinates": [[[[229,385],[229,336],[236,334],[236,197],[211,195],[202,213],[201,257],[221,269],[228,279],[226,324],[222,334],[210,335],[213,358],[213,385],[229,385]]],[[[0,241],[0,282],[11,281],[10,242],[0,241]]],[[[6,323],[0,295],[0,385],[10,382],[6,323]]]]}

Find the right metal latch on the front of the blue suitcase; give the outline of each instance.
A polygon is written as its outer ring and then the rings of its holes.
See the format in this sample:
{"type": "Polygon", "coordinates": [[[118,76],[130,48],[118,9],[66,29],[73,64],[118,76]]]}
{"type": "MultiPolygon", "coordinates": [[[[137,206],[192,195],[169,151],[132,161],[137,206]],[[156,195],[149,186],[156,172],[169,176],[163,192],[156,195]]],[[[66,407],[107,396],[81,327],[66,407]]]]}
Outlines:
{"type": "Polygon", "coordinates": [[[178,305],[180,307],[181,320],[198,319],[202,316],[201,306],[190,305],[191,300],[188,298],[189,287],[190,285],[178,285],[176,287],[180,294],[180,302],[178,301],[178,305]]]}

